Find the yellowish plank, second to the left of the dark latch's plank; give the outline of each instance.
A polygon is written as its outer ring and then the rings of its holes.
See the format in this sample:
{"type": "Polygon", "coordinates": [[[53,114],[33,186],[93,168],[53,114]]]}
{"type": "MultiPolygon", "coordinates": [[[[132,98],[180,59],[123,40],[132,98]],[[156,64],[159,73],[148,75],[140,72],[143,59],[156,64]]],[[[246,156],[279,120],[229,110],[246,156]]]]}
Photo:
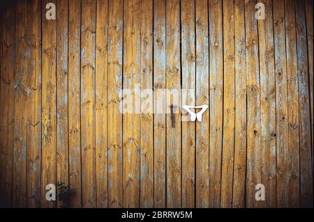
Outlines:
{"type": "Polygon", "coordinates": [[[140,207],[154,207],[153,1],[142,1],[140,136],[140,207]]]}

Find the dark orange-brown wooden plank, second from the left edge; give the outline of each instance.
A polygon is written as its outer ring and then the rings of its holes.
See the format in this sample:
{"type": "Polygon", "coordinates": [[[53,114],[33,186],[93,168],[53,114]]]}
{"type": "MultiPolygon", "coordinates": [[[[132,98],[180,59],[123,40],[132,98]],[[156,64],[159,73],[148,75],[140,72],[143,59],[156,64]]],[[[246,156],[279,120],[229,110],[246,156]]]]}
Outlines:
{"type": "Polygon", "coordinates": [[[27,1],[17,1],[15,8],[15,129],[13,205],[27,207],[27,1]]]}

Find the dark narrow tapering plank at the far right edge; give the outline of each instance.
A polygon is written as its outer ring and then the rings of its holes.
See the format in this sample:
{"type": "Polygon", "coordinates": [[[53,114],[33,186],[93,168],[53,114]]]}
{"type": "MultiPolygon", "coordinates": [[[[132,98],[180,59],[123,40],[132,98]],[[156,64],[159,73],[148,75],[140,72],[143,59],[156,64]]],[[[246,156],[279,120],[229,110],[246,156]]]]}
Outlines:
{"type": "MultiPolygon", "coordinates": [[[[313,113],[313,0],[306,0],[306,33],[308,39],[308,78],[310,85],[310,100],[311,100],[311,134],[312,134],[312,167],[313,167],[313,146],[314,146],[314,113],[313,113]]],[[[313,171],[312,171],[313,172],[313,171]]]]}

